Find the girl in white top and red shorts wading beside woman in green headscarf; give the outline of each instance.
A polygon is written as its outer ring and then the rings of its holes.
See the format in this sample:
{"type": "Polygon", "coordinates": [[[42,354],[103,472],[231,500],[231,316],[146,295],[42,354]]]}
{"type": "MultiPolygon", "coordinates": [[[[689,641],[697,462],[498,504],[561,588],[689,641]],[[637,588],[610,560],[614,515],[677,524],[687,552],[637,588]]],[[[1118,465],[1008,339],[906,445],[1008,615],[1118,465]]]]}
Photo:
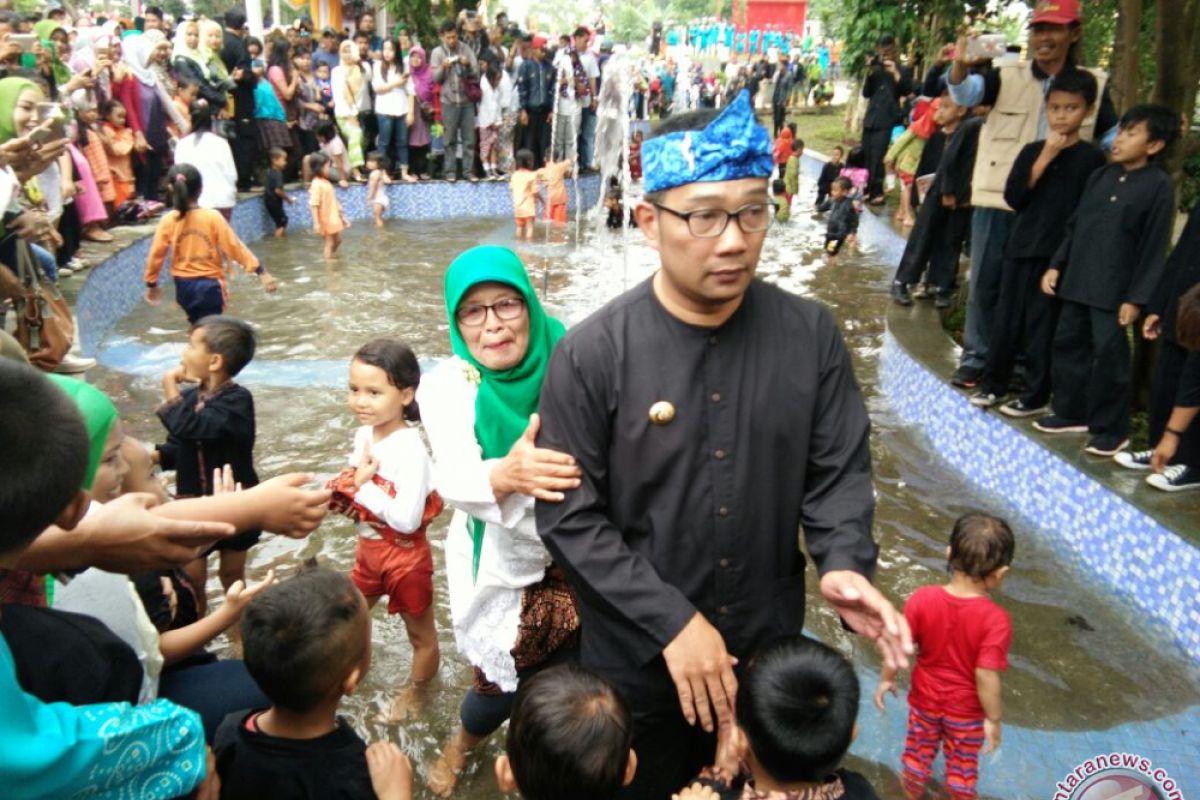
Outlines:
{"type": "Polygon", "coordinates": [[[349,404],[362,427],[354,434],[350,467],[329,483],[330,507],[358,523],[354,581],[373,607],[388,595],[413,645],[412,682],[389,720],[403,720],[437,674],[440,654],[433,624],[433,555],[425,529],[442,512],[433,463],[421,434],[416,386],[421,369],[397,339],[368,342],[350,362],[349,404]]]}

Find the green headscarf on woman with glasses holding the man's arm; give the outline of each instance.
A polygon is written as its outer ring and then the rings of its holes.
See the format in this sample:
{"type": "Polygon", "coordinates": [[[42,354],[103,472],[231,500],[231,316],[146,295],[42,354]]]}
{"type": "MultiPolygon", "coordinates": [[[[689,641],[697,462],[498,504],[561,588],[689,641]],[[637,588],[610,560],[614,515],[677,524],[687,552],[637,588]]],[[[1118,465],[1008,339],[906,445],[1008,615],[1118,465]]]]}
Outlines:
{"type": "MultiPolygon", "coordinates": [[[[475,396],[475,438],[484,458],[502,458],[521,438],[529,415],[538,410],[541,383],[554,344],[563,337],[563,323],[547,317],[529,282],[524,264],[508,247],[481,245],[463,252],[450,264],[445,279],[446,318],[450,320],[450,347],[454,354],[479,371],[475,396]],[[529,347],[521,363],[511,369],[488,369],[470,354],[458,332],[455,311],[472,287],[485,282],[504,283],[521,293],[529,312],[529,347]]],[[[472,518],[475,552],[472,577],[479,575],[479,554],[484,546],[484,523],[472,518]]]]}

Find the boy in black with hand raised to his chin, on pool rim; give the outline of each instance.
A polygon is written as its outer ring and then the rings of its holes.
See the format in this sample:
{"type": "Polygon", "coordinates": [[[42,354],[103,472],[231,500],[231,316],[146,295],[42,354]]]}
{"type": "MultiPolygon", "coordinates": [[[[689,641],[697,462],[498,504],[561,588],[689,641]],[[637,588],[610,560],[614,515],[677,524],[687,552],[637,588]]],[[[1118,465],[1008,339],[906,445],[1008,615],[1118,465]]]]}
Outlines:
{"type": "Polygon", "coordinates": [[[1042,293],[1042,273],[1062,243],[1067,222],[1079,206],[1087,179],[1104,166],[1104,152],[1080,139],[1084,119],[1096,106],[1096,78],[1086,70],[1055,76],[1046,94],[1049,134],[1025,145],[1004,187],[1016,212],[1001,271],[991,345],[971,403],[990,408],[1008,392],[1018,345],[1025,355],[1025,392],[1001,407],[1008,416],[1033,416],[1050,401],[1050,354],[1058,303],[1042,293]]]}

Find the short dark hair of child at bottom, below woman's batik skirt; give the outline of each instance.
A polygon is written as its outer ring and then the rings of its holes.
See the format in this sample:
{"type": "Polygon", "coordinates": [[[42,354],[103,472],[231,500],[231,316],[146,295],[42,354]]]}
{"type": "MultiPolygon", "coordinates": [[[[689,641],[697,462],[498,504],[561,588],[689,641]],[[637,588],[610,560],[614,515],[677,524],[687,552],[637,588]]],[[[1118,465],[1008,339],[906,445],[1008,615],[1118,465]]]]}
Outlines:
{"type": "Polygon", "coordinates": [[[632,740],[616,690],[564,663],[522,681],[504,750],[526,800],[608,800],[624,784],[632,740]]]}

